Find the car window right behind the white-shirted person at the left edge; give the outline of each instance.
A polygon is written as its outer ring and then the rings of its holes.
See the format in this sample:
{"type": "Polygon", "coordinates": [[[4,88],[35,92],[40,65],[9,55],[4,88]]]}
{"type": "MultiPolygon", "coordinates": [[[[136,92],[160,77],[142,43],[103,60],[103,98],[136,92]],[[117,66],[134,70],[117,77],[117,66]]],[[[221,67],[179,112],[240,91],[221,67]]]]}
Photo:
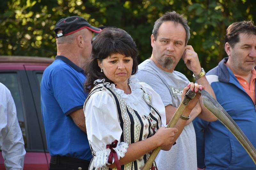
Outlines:
{"type": "Polygon", "coordinates": [[[0,73],[0,82],[3,83],[10,91],[16,106],[17,117],[20,124],[20,129],[22,131],[22,136],[25,143],[25,148],[27,147],[26,131],[23,108],[20,98],[19,83],[17,79],[17,73],[0,73]]]}

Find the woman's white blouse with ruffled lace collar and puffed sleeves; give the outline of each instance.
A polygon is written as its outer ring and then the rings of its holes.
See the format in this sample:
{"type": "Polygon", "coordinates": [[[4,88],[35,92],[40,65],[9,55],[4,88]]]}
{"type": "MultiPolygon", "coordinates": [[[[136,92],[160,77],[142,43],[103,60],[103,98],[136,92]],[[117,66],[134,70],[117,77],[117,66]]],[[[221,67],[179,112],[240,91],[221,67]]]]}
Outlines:
{"type": "MultiPolygon", "coordinates": [[[[98,79],[97,82],[104,82],[105,79],[98,79]]],[[[142,98],[143,90],[140,86],[151,96],[152,105],[161,114],[161,126],[166,126],[165,108],[161,97],[146,83],[139,82],[134,75],[130,77],[129,86],[131,94],[125,94],[124,90],[117,89],[114,84],[105,83],[107,87],[110,86],[118,93],[125,102],[138,113],[148,116],[150,107],[142,98]]],[[[84,116],[86,122],[87,137],[93,150],[96,151],[96,158],[94,166],[102,167],[108,164],[108,156],[111,150],[106,149],[106,145],[111,144],[114,140],[118,140],[116,148],[113,148],[118,156],[124,157],[127,152],[128,144],[120,143],[122,129],[120,127],[116,106],[113,99],[104,91],[98,91],[91,95],[88,99],[85,108],[84,116]]],[[[114,162],[114,160],[113,160],[114,162]]]]}

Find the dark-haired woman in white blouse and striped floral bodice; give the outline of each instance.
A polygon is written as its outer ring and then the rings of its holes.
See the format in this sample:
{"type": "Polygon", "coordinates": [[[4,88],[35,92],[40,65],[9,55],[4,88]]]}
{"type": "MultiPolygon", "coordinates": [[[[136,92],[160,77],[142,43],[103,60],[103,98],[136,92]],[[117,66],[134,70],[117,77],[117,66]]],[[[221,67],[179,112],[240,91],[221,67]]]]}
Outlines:
{"type": "MultiPolygon", "coordinates": [[[[164,127],[165,109],[160,96],[134,76],[137,57],[132,37],[122,29],[105,28],[92,43],[84,84],[90,92],[84,103],[93,155],[89,170],[142,169],[150,151],[158,146],[170,150],[175,142],[178,129],[164,127]]],[[[184,89],[182,98],[189,88],[184,89]]],[[[198,97],[192,101],[189,104],[193,109],[198,97]]],[[[151,169],[156,168],[154,162],[151,169]]]]}

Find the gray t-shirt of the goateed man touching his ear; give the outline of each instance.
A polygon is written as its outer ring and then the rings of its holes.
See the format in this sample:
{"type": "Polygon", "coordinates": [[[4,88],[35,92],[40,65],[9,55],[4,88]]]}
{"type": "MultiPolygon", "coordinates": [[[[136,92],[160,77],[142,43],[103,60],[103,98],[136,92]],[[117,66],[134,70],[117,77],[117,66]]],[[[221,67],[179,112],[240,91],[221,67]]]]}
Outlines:
{"type": "MultiPolygon", "coordinates": [[[[190,82],[184,74],[163,71],[154,61],[148,59],[139,65],[136,77],[150,85],[161,97],[164,106],[179,107],[181,93],[190,82]]],[[[176,140],[170,151],[161,150],[156,158],[159,170],[197,170],[196,134],[192,122],[176,140]]]]}

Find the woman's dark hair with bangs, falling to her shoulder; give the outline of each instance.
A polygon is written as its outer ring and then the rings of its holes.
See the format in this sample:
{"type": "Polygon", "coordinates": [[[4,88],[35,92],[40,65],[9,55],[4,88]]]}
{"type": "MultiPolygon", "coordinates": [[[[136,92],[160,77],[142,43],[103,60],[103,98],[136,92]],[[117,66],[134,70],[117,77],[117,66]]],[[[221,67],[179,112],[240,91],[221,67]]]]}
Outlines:
{"type": "Polygon", "coordinates": [[[132,57],[132,75],[137,73],[138,50],[132,37],[120,28],[105,28],[93,40],[92,55],[85,65],[84,90],[86,92],[91,91],[95,86],[94,81],[97,79],[105,79],[105,82],[113,83],[104,73],[100,72],[97,60],[102,62],[103,59],[116,53],[132,57]]]}

